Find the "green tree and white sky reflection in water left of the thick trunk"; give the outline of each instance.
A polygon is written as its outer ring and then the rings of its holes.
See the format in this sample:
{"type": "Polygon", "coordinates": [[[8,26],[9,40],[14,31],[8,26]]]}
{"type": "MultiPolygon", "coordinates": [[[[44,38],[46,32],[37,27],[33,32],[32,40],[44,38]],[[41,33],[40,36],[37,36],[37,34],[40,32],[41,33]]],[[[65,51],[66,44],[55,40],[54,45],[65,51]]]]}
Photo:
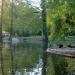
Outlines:
{"type": "MultiPolygon", "coordinates": [[[[42,42],[19,43],[12,45],[13,70],[15,75],[41,75],[42,72],[42,42]]],[[[9,44],[5,43],[3,48],[4,72],[11,75],[11,55],[9,44]]]]}

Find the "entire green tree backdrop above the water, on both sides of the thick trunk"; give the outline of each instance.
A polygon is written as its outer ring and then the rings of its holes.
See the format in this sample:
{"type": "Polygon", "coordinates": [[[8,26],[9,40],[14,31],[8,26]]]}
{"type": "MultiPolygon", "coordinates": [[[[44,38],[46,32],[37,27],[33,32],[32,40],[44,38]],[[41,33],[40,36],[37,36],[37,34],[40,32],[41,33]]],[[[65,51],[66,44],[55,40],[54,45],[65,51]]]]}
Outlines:
{"type": "MultiPolygon", "coordinates": [[[[41,1],[39,5],[30,0],[13,2],[13,35],[30,36],[42,34],[41,1]]],[[[49,40],[63,40],[68,35],[75,35],[75,0],[47,0],[46,24],[49,40]]],[[[10,33],[11,0],[3,5],[3,30],[10,33]]]]}

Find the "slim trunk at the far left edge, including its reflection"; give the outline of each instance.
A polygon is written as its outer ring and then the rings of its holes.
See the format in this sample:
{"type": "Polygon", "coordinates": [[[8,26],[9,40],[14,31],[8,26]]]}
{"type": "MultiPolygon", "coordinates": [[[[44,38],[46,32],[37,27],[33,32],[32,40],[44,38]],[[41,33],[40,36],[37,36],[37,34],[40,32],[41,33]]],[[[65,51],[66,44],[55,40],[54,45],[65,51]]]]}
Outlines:
{"type": "Polygon", "coordinates": [[[0,17],[0,61],[1,61],[0,65],[1,65],[2,75],[4,75],[4,64],[3,64],[3,53],[2,53],[2,48],[3,48],[3,40],[2,40],[3,3],[4,3],[4,1],[2,0],[2,4],[1,4],[1,17],[0,17]]]}

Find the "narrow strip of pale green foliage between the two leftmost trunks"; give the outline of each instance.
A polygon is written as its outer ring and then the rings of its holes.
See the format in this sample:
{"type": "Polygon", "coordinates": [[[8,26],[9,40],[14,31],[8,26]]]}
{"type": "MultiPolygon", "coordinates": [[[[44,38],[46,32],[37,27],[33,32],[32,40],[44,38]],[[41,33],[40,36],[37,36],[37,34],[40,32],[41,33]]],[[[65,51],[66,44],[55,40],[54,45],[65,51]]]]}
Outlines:
{"type": "Polygon", "coordinates": [[[8,31],[10,26],[11,14],[10,0],[4,0],[3,4],[3,30],[8,31]]]}

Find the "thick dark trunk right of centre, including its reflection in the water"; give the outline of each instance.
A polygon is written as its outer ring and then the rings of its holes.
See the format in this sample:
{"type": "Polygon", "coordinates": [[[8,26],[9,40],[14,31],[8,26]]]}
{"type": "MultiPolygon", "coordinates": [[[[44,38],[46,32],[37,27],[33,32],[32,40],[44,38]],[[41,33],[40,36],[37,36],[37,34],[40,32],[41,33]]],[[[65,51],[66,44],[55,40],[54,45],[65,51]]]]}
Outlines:
{"type": "Polygon", "coordinates": [[[43,69],[42,75],[46,75],[46,64],[47,64],[47,53],[46,49],[48,48],[48,35],[47,35],[47,28],[46,28],[46,7],[45,7],[46,0],[41,0],[41,8],[42,8],[42,25],[43,25],[43,69]]]}

